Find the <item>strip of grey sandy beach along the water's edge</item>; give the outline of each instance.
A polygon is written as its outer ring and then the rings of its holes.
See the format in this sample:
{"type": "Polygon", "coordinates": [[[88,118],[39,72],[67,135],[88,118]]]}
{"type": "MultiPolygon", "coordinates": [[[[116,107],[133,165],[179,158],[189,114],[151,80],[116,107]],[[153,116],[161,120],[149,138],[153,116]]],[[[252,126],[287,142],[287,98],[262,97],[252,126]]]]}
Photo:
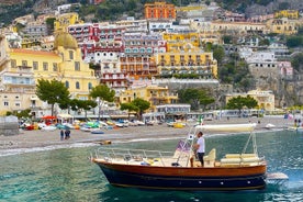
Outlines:
{"type": "MultiPolygon", "coordinates": [[[[231,117],[220,119],[213,121],[204,121],[204,124],[235,124],[235,123],[257,123],[256,131],[269,131],[266,128],[267,124],[273,124],[271,130],[283,130],[293,125],[293,120],[284,120],[282,116],[266,116],[266,117],[231,117]]],[[[23,131],[18,135],[3,136],[0,135],[0,153],[3,149],[15,148],[34,148],[57,145],[70,145],[77,143],[96,143],[100,142],[125,142],[133,139],[147,138],[172,138],[186,137],[189,133],[190,126],[194,123],[188,123],[183,128],[168,127],[166,123],[153,126],[128,126],[113,130],[104,130],[104,134],[91,134],[90,132],[82,132],[80,130],[71,130],[71,137],[69,139],[60,141],[60,130],[56,131],[23,131]]],[[[207,134],[206,134],[207,135],[207,134]]]]}

